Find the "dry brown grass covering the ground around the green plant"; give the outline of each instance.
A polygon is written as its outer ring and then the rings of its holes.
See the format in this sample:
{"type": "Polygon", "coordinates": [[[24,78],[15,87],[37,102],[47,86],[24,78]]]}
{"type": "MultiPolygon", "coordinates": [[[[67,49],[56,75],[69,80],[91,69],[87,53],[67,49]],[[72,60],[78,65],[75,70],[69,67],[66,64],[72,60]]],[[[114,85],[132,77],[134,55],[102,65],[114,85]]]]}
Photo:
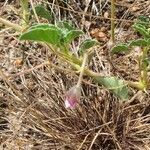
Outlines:
{"type": "MultiPolygon", "coordinates": [[[[99,9],[102,13],[109,11],[110,6],[108,1],[93,2],[92,5],[87,4],[87,7],[84,4],[76,7],[76,1],[71,1],[67,6],[60,1],[55,4],[75,11],[84,11],[85,14],[90,12],[92,6],[94,15],[97,15],[99,9]]],[[[6,3],[1,14],[12,21],[18,21],[19,17],[15,15],[16,7],[18,6],[15,4],[6,3]],[[5,10],[8,10],[7,13],[5,10]]],[[[68,13],[60,7],[49,7],[56,11],[54,21],[67,18],[76,21],[77,26],[85,28],[80,22],[80,19],[86,19],[84,15],[71,11],[68,13]]],[[[144,10],[140,9],[140,12],[144,10]]],[[[125,14],[126,11],[131,13],[129,9],[123,9],[122,13],[125,14]]],[[[123,14],[122,19],[129,17],[128,13],[124,16],[123,14]]],[[[92,20],[90,17],[87,19],[92,20]]],[[[105,28],[109,29],[109,20],[100,20],[101,24],[95,24],[96,21],[91,21],[91,26],[102,27],[106,23],[105,28]]],[[[119,28],[125,27],[120,25],[119,28]]],[[[0,32],[0,149],[150,149],[149,91],[144,93],[132,89],[134,94],[131,94],[131,99],[121,102],[106,89],[94,86],[92,81],[85,77],[80,104],[76,109],[66,109],[63,97],[78,80],[75,72],[47,48],[35,43],[21,43],[9,28],[0,32]],[[46,60],[50,60],[52,64],[47,64],[46,60]]],[[[105,75],[113,74],[107,57],[106,47],[97,47],[90,68],[105,75]]],[[[118,62],[118,59],[114,61],[118,62]]],[[[130,63],[127,64],[120,65],[125,68],[124,71],[127,66],[130,68],[130,63]]],[[[135,70],[134,66],[132,69],[135,70]]],[[[115,72],[121,77],[136,78],[136,70],[135,75],[130,69],[126,73],[127,77],[124,72],[115,72]]]]}

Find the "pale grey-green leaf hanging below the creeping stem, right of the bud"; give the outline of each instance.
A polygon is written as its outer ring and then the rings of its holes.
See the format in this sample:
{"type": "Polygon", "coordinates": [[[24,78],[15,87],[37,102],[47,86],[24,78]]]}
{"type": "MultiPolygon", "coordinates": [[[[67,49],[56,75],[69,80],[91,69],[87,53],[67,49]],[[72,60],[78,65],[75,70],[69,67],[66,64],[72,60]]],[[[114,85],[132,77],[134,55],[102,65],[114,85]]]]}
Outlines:
{"type": "Polygon", "coordinates": [[[123,80],[116,77],[95,77],[95,81],[111,90],[121,100],[128,99],[129,89],[123,80]]]}

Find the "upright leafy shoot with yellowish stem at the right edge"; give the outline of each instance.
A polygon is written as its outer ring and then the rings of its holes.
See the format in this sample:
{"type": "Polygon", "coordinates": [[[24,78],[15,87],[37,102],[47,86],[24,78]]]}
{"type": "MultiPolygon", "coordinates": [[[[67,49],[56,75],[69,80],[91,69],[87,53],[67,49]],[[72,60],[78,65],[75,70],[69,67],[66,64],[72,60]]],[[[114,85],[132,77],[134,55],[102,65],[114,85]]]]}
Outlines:
{"type": "Polygon", "coordinates": [[[137,83],[133,85],[141,90],[146,90],[149,87],[149,78],[148,78],[148,68],[149,68],[149,56],[148,53],[150,51],[150,19],[146,17],[139,17],[137,22],[133,25],[135,31],[137,31],[142,38],[137,40],[129,41],[128,43],[121,43],[115,45],[111,53],[126,53],[131,50],[133,47],[138,46],[141,49],[141,55],[138,58],[140,77],[137,83]]]}

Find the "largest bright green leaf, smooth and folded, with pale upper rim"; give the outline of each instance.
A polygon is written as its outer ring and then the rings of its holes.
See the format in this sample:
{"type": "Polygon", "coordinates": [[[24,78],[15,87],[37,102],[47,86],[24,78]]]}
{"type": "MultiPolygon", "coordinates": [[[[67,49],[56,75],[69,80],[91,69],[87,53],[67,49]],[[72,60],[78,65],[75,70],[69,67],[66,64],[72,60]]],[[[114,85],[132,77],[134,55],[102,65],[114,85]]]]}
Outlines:
{"type": "Polygon", "coordinates": [[[20,40],[32,40],[59,45],[62,38],[61,30],[55,26],[40,24],[31,27],[20,36],[20,40]]]}

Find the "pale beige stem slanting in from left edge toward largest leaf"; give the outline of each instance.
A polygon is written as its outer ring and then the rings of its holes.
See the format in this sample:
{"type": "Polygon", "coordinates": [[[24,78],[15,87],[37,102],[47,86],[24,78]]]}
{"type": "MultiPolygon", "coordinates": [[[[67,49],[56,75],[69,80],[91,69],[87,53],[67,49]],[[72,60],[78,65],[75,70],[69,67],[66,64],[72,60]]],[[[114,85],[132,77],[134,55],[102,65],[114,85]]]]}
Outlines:
{"type": "Polygon", "coordinates": [[[6,26],[12,27],[13,29],[15,29],[17,31],[22,31],[22,27],[19,26],[18,24],[12,23],[12,22],[5,20],[3,18],[0,18],[0,22],[6,26]]]}

